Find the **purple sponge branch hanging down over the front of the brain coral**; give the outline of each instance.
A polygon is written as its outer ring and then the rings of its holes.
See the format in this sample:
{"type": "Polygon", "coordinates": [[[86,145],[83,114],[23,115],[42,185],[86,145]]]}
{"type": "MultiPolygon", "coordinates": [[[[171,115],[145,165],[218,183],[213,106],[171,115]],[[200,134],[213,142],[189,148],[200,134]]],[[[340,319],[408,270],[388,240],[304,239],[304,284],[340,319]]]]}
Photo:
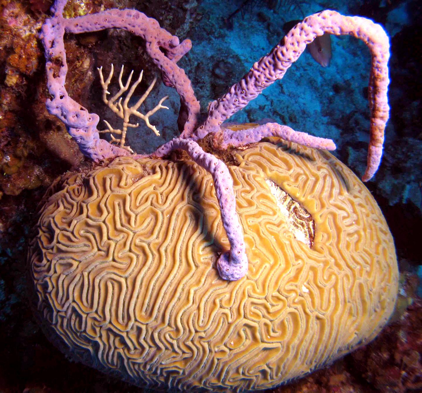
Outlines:
{"type": "Polygon", "coordinates": [[[206,153],[194,141],[177,138],[162,145],[154,155],[163,157],[175,149],[185,150],[198,165],[208,171],[213,180],[217,200],[221,211],[221,220],[230,243],[230,252],[224,252],[217,260],[221,278],[239,280],[248,271],[248,259],[245,253],[242,227],[236,214],[236,200],[233,191],[233,179],[222,161],[206,153]]]}

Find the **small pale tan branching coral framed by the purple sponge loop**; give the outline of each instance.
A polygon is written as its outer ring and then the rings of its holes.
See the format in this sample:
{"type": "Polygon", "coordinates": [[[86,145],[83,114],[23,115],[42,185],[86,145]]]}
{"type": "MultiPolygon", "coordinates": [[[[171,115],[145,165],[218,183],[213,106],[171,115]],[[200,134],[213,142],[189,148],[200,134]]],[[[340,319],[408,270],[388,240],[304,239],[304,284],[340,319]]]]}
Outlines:
{"type": "Polygon", "coordinates": [[[159,109],[168,109],[168,107],[165,107],[164,105],[162,105],[162,103],[168,98],[168,96],[165,96],[162,99],[160,99],[158,104],[153,109],[146,112],[145,114],[138,111],[138,108],[143,104],[146,97],[148,97],[149,93],[151,93],[151,90],[154,88],[155,82],[157,82],[157,77],[155,77],[154,80],[149,85],[149,87],[146,89],[145,93],[141,96],[141,98],[138,99],[138,101],[133,106],[128,107],[127,104],[129,104],[129,101],[132,98],[132,95],[135,92],[135,89],[138,87],[139,83],[141,83],[142,76],[143,76],[143,70],[142,70],[141,73],[139,74],[139,78],[135,80],[133,85],[130,87],[130,90],[127,92],[126,97],[124,98],[124,101],[122,104],[122,99],[123,99],[122,94],[125,93],[127,89],[129,88],[130,82],[132,80],[132,75],[133,75],[133,70],[132,70],[132,72],[130,72],[129,77],[127,78],[126,83],[123,84],[122,82],[123,69],[124,69],[124,66],[122,65],[122,68],[120,69],[120,73],[119,73],[120,90],[109,99],[107,98],[107,95],[110,94],[110,92],[107,89],[108,89],[108,85],[110,84],[111,78],[113,78],[114,66],[113,64],[111,64],[111,70],[106,80],[104,80],[104,77],[103,77],[103,66],[97,69],[98,73],[100,74],[100,83],[101,83],[101,86],[103,87],[104,104],[106,104],[114,113],[116,113],[116,115],[118,115],[119,118],[123,119],[122,129],[113,128],[110,125],[110,123],[108,123],[108,121],[104,120],[104,123],[106,123],[108,130],[103,130],[103,131],[98,131],[98,132],[111,133],[112,142],[119,144],[119,147],[122,147],[123,149],[133,153],[133,150],[129,146],[125,146],[124,142],[126,141],[127,128],[128,127],[136,128],[139,126],[139,123],[136,123],[136,124],[129,123],[130,116],[133,115],[142,119],[145,122],[146,126],[152,131],[154,131],[155,135],[159,136],[160,131],[158,131],[157,128],[149,122],[149,118],[150,116],[154,115],[154,113],[157,112],[157,110],[159,109]],[[119,100],[119,101],[116,101],[116,100],[119,100]],[[121,135],[120,139],[116,139],[113,136],[113,134],[121,135]]]}

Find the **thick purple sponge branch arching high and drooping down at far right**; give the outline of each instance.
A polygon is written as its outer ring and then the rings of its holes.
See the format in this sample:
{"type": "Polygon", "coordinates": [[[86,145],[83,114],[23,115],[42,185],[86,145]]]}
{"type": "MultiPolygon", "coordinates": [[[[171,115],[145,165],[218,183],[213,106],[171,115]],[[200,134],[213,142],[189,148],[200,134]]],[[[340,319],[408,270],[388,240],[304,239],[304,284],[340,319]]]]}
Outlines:
{"type": "Polygon", "coordinates": [[[244,108],[264,88],[283,78],[288,68],[303,53],[306,45],[324,33],[353,35],[364,41],[371,51],[372,67],[368,89],[371,128],[368,166],[362,180],[371,179],[381,161],[384,128],[390,110],[387,99],[390,82],[387,67],[390,43],[380,25],[359,16],[343,16],[338,12],[327,10],[308,16],[303,22],[298,23],[267,56],[253,65],[239,83],[211,103],[204,127],[197,131],[198,136],[215,132],[216,127],[244,108]]]}

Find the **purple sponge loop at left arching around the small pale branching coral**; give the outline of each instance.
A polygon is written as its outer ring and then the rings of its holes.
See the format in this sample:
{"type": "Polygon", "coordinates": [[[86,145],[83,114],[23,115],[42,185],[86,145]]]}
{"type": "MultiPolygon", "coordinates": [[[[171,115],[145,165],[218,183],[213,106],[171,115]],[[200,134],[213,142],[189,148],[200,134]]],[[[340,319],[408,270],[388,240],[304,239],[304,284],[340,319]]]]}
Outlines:
{"type": "Polygon", "coordinates": [[[78,143],[79,149],[94,161],[113,158],[129,153],[100,139],[97,124],[99,117],[71,99],[65,89],[68,66],[64,46],[64,33],[98,31],[119,27],[146,40],[146,50],[162,72],[168,86],[176,88],[181,97],[179,128],[192,133],[197,126],[199,102],[184,70],[176,64],[192,47],[190,40],[179,43],[179,38],[161,29],[155,19],[135,10],[108,10],[93,15],[64,19],[62,16],[66,0],[58,0],[51,11],[54,16],[47,19],[41,28],[41,40],[45,49],[47,87],[51,99],[46,102],[49,113],[65,123],[69,134],[78,143]]]}

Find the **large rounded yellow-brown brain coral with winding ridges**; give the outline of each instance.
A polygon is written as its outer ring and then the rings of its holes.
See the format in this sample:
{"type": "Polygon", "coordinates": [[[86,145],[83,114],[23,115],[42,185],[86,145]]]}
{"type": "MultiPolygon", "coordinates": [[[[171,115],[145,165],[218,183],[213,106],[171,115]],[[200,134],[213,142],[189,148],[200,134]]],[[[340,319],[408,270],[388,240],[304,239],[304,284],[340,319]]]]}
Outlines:
{"type": "Polygon", "coordinates": [[[187,391],[269,388],[371,340],[395,304],[392,236],[360,180],[325,151],[267,142],[230,166],[249,269],[211,175],[122,157],[56,181],[29,260],[38,313],[72,358],[187,391]]]}

